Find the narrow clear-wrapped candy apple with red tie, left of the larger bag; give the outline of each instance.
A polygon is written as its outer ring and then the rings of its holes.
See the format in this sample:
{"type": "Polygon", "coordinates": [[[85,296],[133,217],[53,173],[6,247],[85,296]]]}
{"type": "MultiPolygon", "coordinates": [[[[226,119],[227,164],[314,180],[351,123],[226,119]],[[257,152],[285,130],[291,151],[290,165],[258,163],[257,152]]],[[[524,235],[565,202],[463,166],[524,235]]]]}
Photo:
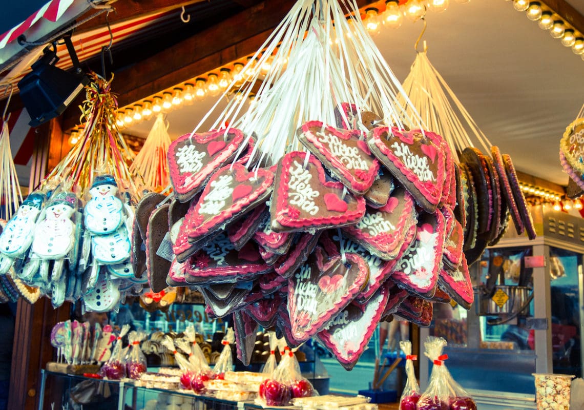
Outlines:
{"type": "Polygon", "coordinates": [[[448,356],[442,354],[444,346],[446,346],[446,340],[434,336],[429,336],[424,342],[426,349],[424,355],[432,360],[434,366],[430,374],[430,383],[418,400],[417,410],[449,410],[449,387],[446,367],[443,366],[448,356]]]}

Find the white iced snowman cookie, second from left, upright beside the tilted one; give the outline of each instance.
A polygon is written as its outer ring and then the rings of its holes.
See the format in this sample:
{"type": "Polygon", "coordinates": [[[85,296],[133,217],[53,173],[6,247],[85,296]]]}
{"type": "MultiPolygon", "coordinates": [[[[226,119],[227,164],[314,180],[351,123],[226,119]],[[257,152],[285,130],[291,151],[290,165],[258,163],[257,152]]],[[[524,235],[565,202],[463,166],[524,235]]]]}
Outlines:
{"type": "Polygon", "coordinates": [[[50,260],[54,260],[51,280],[57,282],[62,274],[65,258],[75,245],[77,196],[62,192],[55,195],[44,209],[44,218],[34,229],[31,259],[40,259],[40,276],[48,282],[50,260]]]}

